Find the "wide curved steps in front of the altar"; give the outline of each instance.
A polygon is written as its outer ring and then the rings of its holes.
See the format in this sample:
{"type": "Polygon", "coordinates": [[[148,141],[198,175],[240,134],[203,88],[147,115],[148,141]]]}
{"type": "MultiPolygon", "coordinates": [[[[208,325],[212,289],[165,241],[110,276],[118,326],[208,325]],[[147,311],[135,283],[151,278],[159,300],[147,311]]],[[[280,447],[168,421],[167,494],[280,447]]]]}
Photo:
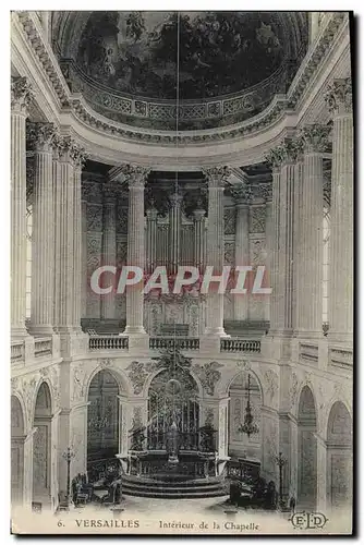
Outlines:
{"type": "Polygon", "coordinates": [[[122,494],[145,498],[213,498],[228,494],[219,479],[198,479],[195,481],[157,481],[154,479],[124,475],[122,494]]]}

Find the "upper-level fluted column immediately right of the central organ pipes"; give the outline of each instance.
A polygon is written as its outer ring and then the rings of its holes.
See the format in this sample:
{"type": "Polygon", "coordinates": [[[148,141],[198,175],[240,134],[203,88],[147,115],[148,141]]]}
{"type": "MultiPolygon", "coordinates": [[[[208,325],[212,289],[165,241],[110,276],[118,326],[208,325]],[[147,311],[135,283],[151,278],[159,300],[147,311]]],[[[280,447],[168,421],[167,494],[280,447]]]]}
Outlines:
{"type": "MultiPolygon", "coordinates": [[[[226,167],[205,171],[208,181],[208,225],[206,265],[214,267],[214,276],[222,275],[223,247],[223,187],[229,175],[226,167]]],[[[206,336],[225,337],[223,293],[218,293],[217,283],[210,284],[207,294],[206,336]]]]}

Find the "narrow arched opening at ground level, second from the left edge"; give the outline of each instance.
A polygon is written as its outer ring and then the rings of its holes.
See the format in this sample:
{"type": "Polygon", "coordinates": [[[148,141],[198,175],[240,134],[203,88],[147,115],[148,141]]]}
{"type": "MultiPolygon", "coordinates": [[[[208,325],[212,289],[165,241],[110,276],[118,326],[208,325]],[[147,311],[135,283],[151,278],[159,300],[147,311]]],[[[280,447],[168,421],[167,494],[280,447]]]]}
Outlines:
{"type": "Polygon", "coordinates": [[[49,386],[41,383],[34,410],[33,501],[50,505],[51,486],[51,419],[49,386]]]}

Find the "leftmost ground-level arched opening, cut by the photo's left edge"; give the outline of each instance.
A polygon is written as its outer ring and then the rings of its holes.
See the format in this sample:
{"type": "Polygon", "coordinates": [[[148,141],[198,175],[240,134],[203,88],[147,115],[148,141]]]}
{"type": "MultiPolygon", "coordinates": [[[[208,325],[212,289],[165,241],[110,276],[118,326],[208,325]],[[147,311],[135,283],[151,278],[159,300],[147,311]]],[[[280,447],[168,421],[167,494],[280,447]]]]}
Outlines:
{"type": "Polygon", "coordinates": [[[24,415],[15,396],[11,396],[11,501],[23,502],[24,488],[24,415]]]}

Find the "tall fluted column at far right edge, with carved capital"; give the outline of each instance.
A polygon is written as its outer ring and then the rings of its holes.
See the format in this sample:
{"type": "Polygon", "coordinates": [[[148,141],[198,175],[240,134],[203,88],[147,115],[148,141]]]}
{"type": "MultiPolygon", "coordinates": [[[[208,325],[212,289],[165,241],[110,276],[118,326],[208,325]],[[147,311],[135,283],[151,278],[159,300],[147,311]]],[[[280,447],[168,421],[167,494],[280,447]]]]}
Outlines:
{"type": "Polygon", "coordinates": [[[353,340],[353,114],[351,78],[336,80],[326,100],[332,112],[329,332],[353,340]]]}

